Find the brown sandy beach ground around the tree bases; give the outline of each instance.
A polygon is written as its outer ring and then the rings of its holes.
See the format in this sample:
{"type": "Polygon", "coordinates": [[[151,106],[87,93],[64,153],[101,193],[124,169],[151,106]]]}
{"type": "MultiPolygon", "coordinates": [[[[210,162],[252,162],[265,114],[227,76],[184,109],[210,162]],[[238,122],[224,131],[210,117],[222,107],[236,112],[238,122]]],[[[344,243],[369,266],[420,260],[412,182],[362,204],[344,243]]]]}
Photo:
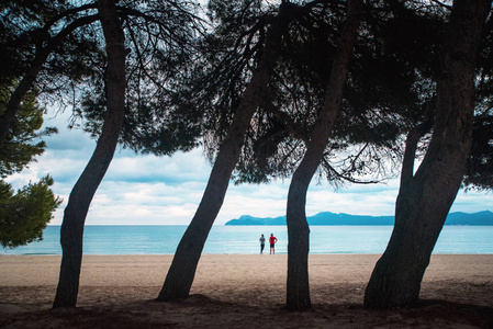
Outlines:
{"type": "Polygon", "coordinates": [[[204,254],[191,296],[155,298],[172,256],[86,256],[78,307],[51,309],[59,256],[0,256],[0,328],[493,328],[493,254],[437,254],[412,308],[362,308],[379,256],[312,254],[313,310],[283,309],[285,254],[204,254]]]}

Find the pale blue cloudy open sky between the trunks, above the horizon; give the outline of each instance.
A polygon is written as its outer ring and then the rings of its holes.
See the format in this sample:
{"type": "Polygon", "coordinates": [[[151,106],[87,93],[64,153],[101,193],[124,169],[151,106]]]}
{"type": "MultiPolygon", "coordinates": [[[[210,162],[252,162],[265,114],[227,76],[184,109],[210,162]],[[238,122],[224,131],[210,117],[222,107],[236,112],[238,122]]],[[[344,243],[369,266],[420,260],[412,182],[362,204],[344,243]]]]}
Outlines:
{"type": "MultiPolygon", "coordinates": [[[[68,129],[68,113],[45,115],[46,126],[58,134],[45,138],[46,151],[29,169],[8,179],[15,189],[51,174],[54,193],[64,201],[49,225],[60,225],[68,195],[89,161],[96,140],[68,129]]],[[[86,225],[188,225],[200,203],[212,164],[201,149],[172,157],[136,155],[119,148],[100,184],[86,225]]],[[[269,184],[229,184],[215,225],[242,215],[277,217],[285,214],[289,180],[269,184]]],[[[350,185],[338,191],[326,182],[312,182],[306,215],[320,212],[352,215],[393,215],[399,180],[371,185],[350,185]]],[[[493,195],[460,191],[451,212],[493,211],[493,195]]]]}

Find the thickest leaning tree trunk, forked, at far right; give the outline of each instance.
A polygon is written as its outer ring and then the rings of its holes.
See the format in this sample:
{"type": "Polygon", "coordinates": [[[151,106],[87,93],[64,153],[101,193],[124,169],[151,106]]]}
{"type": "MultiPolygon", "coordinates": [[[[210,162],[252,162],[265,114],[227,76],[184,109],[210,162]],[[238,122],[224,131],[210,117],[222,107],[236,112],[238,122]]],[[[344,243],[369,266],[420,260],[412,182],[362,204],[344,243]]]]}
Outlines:
{"type": "Polygon", "coordinates": [[[459,190],[471,145],[475,53],[490,9],[490,0],[453,1],[432,141],[413,175],[417,140],[413,136],[407,140],[395,225],[368,283],[366,307],[402,307],[418,300],[423,275],[459,190]]]}

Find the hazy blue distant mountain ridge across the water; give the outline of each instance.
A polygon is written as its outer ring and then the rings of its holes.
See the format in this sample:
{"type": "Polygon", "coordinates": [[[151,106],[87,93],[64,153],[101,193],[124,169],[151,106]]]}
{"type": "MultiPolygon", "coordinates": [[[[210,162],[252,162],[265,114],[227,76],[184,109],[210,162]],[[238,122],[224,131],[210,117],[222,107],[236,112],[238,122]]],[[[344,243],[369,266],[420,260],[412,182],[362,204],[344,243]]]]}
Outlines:
{"type": "MultiPolygon", "coordinates": [[[[329,212],[318,213],[306,219],[310,225],[394,225],[394,216],[361,216],[329,212]]],[[[238,219],[227,222],[225,225],[285,225],[285,216],[259,218],[243,215],[238,219]]],[[[493,226],[493,213],[489,211],[474,214],[451,213],[447,216],[445,225],[493,226]]]]}

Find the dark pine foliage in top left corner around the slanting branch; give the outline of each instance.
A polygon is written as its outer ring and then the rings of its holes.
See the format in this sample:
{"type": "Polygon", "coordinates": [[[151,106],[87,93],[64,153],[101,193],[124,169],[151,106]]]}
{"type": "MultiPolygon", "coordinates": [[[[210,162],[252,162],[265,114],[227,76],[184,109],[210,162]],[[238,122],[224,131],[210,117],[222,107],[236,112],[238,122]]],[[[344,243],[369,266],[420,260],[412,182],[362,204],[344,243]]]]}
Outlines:
{"type": "Polygon", "coordinates": [[[85,76],[93,75],[98,34],[92,27],[81,23],[72,34],[54,43],[70,23],[91,13],[94,4],[83,8],[77,10],[65,1],[2,1],[2,84],[21,80],[42,57],[46,60],[36,84],[41,94],[72,92],[85,76]]]}

